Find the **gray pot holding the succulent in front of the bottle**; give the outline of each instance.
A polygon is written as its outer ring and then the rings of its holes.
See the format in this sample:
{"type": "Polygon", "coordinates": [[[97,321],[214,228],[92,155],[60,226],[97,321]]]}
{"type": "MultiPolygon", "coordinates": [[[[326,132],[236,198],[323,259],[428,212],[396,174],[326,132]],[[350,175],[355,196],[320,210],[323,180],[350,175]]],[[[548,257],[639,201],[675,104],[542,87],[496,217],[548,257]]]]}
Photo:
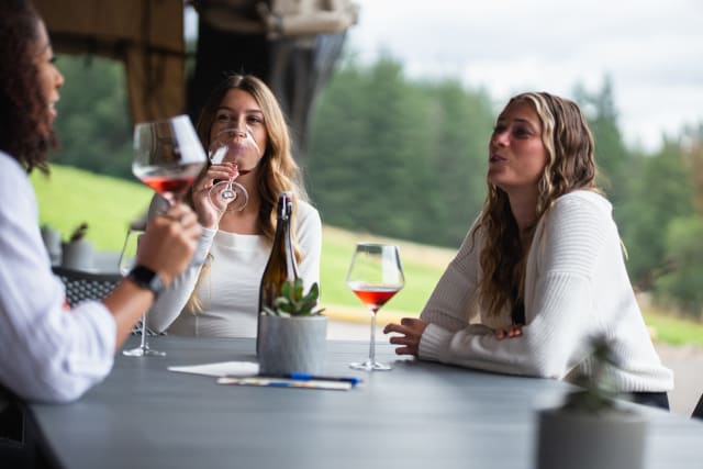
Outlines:
{"type": "Polygon", "coordinates": [[[324,372],[326,316],[279,317],[263,314],[259,320],[261,375],[324,372]]]}

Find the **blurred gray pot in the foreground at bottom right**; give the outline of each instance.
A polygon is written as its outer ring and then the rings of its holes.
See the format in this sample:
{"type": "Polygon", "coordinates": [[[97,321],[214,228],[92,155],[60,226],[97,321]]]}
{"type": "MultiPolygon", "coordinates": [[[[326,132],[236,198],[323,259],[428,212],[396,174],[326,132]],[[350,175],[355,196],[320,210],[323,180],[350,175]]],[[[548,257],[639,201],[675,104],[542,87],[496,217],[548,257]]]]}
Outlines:
{"type": "Polygon", "coordinates": [[[647,422],[622,409],[600,414],[543,410],[537,469],[641,469],[647,422]]]}

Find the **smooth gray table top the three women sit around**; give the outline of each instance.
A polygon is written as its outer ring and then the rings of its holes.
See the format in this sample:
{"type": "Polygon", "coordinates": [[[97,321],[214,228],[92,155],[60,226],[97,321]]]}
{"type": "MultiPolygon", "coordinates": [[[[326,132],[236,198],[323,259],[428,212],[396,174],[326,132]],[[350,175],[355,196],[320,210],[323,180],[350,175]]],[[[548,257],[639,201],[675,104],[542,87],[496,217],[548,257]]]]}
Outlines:
{"type": "MultiPolygon", "coordinates": [[[[127,347],[136,345],[132,339],[127,347]]],[[[328,342],[330,375],[350,391],[221,386],[172,365],[254,361],[252,339],[154,337],[166,357],[119,355],[105,381],[68,405],[31,410],[48,451],[82,468],[515,468],[534,467],[536,410],[562,382],[377,356],[393,370],[360,372],[368,345],[328,342]]],[[[641,407],[647,468],[701,468],[703,424],[641,407]]]]}

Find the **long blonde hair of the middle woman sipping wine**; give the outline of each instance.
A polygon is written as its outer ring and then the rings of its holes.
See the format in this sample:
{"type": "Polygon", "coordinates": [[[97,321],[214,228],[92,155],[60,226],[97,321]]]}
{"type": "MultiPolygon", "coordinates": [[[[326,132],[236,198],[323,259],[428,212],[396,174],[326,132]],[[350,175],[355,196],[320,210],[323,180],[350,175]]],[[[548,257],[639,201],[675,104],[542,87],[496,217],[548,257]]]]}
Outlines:
{"type": "MultiPolygon", "coordinates": [[[[260,200],[258,220],[261,235],[269,244],[272,244],[276,234],[276,205],[279,194],[282,191],[293,192],[294,203],[291,225],[295,226],[298,202],[306,202],[308,193],[302,182],[300,167],[293,159],[291,153],[291,138],[283,111],[266,83],[253,75],[228,75],[212,91],[200,113],[197,125],[198,135],[203,146],[205,148],[210,147],[210,130],[215,122],[217,108],[222,103],[225,94],[233,89],[239,89],[252,94],[264,113],[264,124],[268,139],[264,157],[259,161],[256,190],[260,200]]],[[[210,166],[210,164],[208,166],[210,166]]],[[[207,170],[208,168],[203,169],[203,172],[207,170]]],[[[192,198],[189,198],[189,200],[192,205],[192,198]]],[[[291,234],[295,257],[298,261],[300,261],[302,256],[295,241],[295,231],[293,230],[291,234]]],[[[209,266],[205,264],[187,304],[187,309],[191,312],[202,311],[202,304],[196,292],[198,291],[200,282],[208,273],[209,266]]]]}

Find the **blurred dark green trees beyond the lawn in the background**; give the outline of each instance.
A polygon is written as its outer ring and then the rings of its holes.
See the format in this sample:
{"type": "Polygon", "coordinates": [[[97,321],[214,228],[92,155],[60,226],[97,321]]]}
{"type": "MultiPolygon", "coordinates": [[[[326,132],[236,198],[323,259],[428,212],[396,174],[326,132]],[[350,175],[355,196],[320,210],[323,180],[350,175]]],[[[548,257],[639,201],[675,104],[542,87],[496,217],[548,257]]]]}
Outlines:
{"type": "MultiPolygon", "coordinates": [[[[67,85],[54,160],[133,179],[121,65],[62,56],[59,67],[67,85]]],[[[703,319],[703,123],[667,135],[655,152],[628,148],[614,97],[607,78],[570,96],[593,131],[633,282],[703,319]]],[[[458,79],[408,78],[392,57],[347,57],[313,107],[300,159],[323,222],[458,247],[483,203],[488,139],[503,105],[458,79]]]]}

